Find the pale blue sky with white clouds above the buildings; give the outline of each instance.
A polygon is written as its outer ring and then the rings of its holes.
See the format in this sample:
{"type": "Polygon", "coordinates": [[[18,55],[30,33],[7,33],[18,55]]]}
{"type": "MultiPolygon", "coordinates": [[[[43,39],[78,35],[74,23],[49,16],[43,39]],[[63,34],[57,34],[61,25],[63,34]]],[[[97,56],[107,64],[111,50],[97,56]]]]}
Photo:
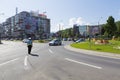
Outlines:
{"type": "Polygon", "coordinates": [[[0,23],[22,11],[39,11],[51,20],[51,32],[79,25],[120,20],[120,0],[0,0],[0,23]]]}

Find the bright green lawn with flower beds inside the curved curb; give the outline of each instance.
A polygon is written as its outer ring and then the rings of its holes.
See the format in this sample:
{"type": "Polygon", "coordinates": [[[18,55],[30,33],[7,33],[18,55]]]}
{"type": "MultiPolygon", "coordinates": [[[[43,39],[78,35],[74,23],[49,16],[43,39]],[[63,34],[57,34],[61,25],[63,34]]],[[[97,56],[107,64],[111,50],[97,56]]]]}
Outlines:
{"type": "Polygon", "coordinates": [[[72,47],[120,54],[120,41],[109,41],[109,44],[94,44],[94,42],[73,43],[72,47]]]}

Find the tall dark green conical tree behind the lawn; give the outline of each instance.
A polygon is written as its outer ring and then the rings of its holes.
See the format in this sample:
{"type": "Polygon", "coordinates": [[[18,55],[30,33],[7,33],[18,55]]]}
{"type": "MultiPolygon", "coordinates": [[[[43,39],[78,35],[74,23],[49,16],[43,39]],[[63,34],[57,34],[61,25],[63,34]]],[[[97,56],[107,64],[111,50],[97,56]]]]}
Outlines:
{"type": "Polygon", "coordinates": [[[114,18],[112,16],[109,16],[106,25],[104,26],[105,33],[107,34],[108,37],[115,36],[117,27],[114,21],[114,18]]]}

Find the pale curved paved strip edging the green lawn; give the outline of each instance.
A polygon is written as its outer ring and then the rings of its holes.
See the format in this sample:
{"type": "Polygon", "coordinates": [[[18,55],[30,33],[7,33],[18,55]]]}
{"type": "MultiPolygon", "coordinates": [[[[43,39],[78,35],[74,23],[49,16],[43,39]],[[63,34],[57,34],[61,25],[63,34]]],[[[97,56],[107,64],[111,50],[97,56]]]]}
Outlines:
{"type": "Polygon", "coordinates": [[[77,48],[71,47],[70,45],[65,46],[65,48],[68,49],[68,50],[71,50],[71,51],[79,52],[79,53],[120,59],[120,55],[119,54],[108,53],[108,52],[97,52],[97,51],[84,50],[84,49],[77,49],[77,48]]]}

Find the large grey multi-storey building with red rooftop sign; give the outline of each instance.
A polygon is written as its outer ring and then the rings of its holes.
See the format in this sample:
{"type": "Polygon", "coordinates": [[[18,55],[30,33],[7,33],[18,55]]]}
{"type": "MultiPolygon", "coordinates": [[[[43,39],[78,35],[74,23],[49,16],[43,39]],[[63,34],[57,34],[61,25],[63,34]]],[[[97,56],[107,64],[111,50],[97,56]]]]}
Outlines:
{"type": "Polygon", "coordinates": [[[2,37],[42,39],[49,38],[50,35],[50,19],[45,14],[33,11],[20,12],[6,19],[2,24],[5,31],[2,37]]]}

